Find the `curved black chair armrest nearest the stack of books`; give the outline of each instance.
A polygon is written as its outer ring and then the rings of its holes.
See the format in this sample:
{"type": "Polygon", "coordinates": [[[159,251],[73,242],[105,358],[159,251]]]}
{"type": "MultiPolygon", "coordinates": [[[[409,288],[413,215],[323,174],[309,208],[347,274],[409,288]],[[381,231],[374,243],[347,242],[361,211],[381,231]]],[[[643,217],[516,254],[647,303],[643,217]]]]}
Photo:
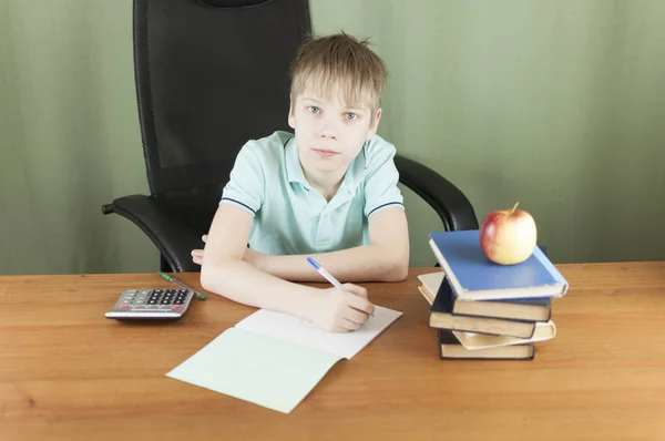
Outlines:
{"type": "Polygon", "coordinates": [[[396,155],[399,181],[422,197],[449,230],[478,229],[471,202],[450,181],[413,160],[396,155]]]}

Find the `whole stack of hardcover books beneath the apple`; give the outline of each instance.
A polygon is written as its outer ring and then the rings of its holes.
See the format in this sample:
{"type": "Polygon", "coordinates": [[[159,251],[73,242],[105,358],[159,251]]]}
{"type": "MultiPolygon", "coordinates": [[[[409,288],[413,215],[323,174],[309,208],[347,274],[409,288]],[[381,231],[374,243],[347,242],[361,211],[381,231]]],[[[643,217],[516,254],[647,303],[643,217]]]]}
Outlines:
{"type": "Polygon", "coordinates": [[[441,270],[419,276],[419,289],[442,359],[532,360],[535,342],[556,336],[551,302],[569,284],[540,247],[521,264],[498,265],[478,229],[431,233],[430,246],[441,270]]]}

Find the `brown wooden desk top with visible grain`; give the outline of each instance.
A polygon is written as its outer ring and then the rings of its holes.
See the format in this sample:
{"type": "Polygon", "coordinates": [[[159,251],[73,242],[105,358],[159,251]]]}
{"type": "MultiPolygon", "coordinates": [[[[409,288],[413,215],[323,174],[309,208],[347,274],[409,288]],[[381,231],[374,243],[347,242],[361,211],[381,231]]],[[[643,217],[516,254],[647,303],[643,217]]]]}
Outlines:
{"type": "MultiPolygon", "coordinates": [[[[665,263],[561,265],[559,335],[533,361],[441,361],[412,269],[367,284],[403,316],[288,416],[165,377],[254,311],[104,318],[153,274],[0,277],[0,440],[663,440],[665,263]]],[[[197,275],[183,275],[200,286],[197,275]]]]}

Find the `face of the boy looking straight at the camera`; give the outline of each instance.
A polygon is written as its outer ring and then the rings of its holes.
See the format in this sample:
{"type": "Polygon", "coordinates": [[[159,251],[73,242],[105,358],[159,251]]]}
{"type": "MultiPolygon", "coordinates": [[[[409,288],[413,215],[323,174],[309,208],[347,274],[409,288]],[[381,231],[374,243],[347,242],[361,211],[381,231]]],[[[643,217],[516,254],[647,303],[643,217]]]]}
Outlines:
{"type": "Polygon", "coordinates": [[[303,93],[291,96],[288,125],[295,131],[306,172],[346,172],[365,141],[377,132],[381,110],[350,105],[339,99],[303,93]]]}

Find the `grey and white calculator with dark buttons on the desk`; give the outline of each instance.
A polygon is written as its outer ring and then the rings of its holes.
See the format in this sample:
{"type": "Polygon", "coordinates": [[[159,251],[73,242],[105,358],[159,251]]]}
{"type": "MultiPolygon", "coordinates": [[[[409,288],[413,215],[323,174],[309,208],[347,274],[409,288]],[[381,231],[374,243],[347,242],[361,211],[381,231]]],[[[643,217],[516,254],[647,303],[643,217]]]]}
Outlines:
{"type": "Polygon", "coordinates": [[[178,319],[190,308],[195,293],[192,289],[127,289],[122,293],[106,318],[114,319],[178,319]]]}

